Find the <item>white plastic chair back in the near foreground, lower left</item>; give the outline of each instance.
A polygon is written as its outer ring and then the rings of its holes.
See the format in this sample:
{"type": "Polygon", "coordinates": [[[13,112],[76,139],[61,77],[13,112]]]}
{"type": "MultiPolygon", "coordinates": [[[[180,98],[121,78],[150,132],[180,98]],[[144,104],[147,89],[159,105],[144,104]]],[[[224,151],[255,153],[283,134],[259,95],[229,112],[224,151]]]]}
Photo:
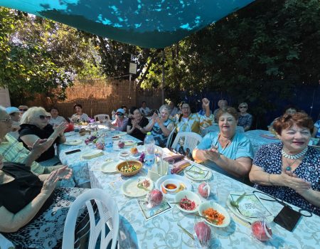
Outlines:
{"type": "Polygon", "coordinates": [[[65,219],[62,248],[74,248],[75,222],[78,218],[78,211],[84,206],[87,206],[87,211],[90,216],[90,238],[88,248],[95,248],[99,235],[101,235],[100,249],[107,248],[110,240],[112,240],[111,248],[116,248],[119,233],[119,211],[114,199],[102,189],[89,189],[88,191],[85,191],[80,194],[70,206],[67,218],[65,219]],[[90,200],[95,200],[95,203],[97,204],[97,212],[100,216],[97,225],[95,221],[95,212],[90,200]],[[105,227],[110,218],[112,219],[112,228],[110,228],[110,232],[106,235],[105,227]]]}

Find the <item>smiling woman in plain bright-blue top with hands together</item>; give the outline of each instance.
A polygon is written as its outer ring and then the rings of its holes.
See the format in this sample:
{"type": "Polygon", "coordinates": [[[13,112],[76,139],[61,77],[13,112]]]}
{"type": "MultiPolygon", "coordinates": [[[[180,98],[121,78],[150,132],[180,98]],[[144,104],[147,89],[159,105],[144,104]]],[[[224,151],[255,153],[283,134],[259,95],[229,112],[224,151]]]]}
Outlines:
{"type": "Polygon", "coordinates": [[[206,166],[245,181],[252,166],[252,146],[245,134],[236,133],[238,112],[233,107],[217,113],[220,132],[210,132],[193,150],[193,158],[206,166]]]}

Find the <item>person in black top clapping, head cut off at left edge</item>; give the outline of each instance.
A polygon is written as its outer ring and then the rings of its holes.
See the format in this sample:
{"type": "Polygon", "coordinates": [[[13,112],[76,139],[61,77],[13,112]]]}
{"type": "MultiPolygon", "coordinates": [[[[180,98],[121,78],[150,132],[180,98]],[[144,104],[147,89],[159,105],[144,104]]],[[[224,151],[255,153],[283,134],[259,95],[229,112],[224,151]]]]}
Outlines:
{"type": "MultiPolygon", "coordinates": [[[[55,189],[72,171],[64,166],[38,177],[30,163],[3,162],[0,155],[0,232],[16,248],[61,248],[68,208],[85,189],[55,189]]],[[[78,222],[86,223],[84,217],[82,213],[78,222]]]]}

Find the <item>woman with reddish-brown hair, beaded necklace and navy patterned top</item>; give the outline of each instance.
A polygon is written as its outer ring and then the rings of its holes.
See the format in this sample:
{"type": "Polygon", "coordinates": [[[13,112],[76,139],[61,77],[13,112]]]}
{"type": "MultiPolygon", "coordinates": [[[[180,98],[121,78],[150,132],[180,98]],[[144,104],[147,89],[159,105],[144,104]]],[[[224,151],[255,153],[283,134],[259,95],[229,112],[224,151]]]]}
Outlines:
{"type": "Polygon", "coordinates": [[[320,152],[309,147],[314,124],[306,113],[279,117],[274,130],[281,140],[255,154],[250,181],[267,194],[320,215],[320,152]]]}

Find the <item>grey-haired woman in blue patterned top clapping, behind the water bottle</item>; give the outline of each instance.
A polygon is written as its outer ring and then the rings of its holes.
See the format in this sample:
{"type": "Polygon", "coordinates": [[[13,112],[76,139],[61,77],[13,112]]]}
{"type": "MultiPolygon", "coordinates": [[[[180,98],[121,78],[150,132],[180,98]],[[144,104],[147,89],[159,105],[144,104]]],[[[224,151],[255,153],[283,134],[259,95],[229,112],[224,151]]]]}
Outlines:
{"type": "Polygon", "coordinates": [[[144,130],[147,132],[151,131],[151,134],[154,136],[154,140],[156,141],[156,145],[166,147],[168,136],[174,129],[174,121],[169,119],[171,113],[169,105],[161,105],[159,110],[160,117],[154,113],[149,124],[144,127],[144,130]]]}

